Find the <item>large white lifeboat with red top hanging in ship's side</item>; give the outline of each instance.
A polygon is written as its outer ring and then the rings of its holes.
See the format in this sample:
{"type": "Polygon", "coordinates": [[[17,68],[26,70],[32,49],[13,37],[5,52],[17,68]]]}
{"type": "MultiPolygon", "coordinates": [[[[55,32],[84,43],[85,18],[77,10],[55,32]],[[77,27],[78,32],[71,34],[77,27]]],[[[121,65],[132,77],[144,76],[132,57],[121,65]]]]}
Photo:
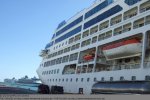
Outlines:
{"type": "Polygon", "coordinates": [[[102,47],[107,60],[139,56],[142,44],[139,39],[124,40],[102,47]]]}

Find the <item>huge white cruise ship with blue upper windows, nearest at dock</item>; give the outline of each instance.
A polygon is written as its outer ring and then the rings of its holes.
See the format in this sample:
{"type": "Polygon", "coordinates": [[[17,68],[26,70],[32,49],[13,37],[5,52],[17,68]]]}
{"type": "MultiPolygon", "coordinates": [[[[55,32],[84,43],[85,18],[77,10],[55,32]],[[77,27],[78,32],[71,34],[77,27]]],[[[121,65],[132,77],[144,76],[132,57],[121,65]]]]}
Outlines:
{"type": "Polygon", "coordinates": [[[65,93],[150,93],[150,0],[96,0],[40,52],[43,84],[65,93]]]}

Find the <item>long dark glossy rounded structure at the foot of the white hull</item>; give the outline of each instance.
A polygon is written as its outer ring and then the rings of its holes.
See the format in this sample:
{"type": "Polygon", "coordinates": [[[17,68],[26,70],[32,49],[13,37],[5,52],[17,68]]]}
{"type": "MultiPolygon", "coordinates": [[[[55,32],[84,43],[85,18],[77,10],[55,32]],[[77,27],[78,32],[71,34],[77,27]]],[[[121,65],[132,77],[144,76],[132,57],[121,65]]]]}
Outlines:
{"type": "Polygon", "coordinates": [[[98,82],[92,86],[92,93],[136,93],[149,94],[149,81],[98,82]]]}

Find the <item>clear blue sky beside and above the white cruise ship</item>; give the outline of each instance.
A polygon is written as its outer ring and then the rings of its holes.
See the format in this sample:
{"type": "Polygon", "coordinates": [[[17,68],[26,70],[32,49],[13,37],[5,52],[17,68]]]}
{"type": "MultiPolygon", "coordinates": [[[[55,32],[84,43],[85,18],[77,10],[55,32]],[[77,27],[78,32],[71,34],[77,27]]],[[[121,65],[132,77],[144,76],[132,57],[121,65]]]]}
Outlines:
{"type": "Polygon", "coordinates": [[[0,0],[0,81],[37,76],[39,52],[57,25],[94,0],[0,0]]]}

